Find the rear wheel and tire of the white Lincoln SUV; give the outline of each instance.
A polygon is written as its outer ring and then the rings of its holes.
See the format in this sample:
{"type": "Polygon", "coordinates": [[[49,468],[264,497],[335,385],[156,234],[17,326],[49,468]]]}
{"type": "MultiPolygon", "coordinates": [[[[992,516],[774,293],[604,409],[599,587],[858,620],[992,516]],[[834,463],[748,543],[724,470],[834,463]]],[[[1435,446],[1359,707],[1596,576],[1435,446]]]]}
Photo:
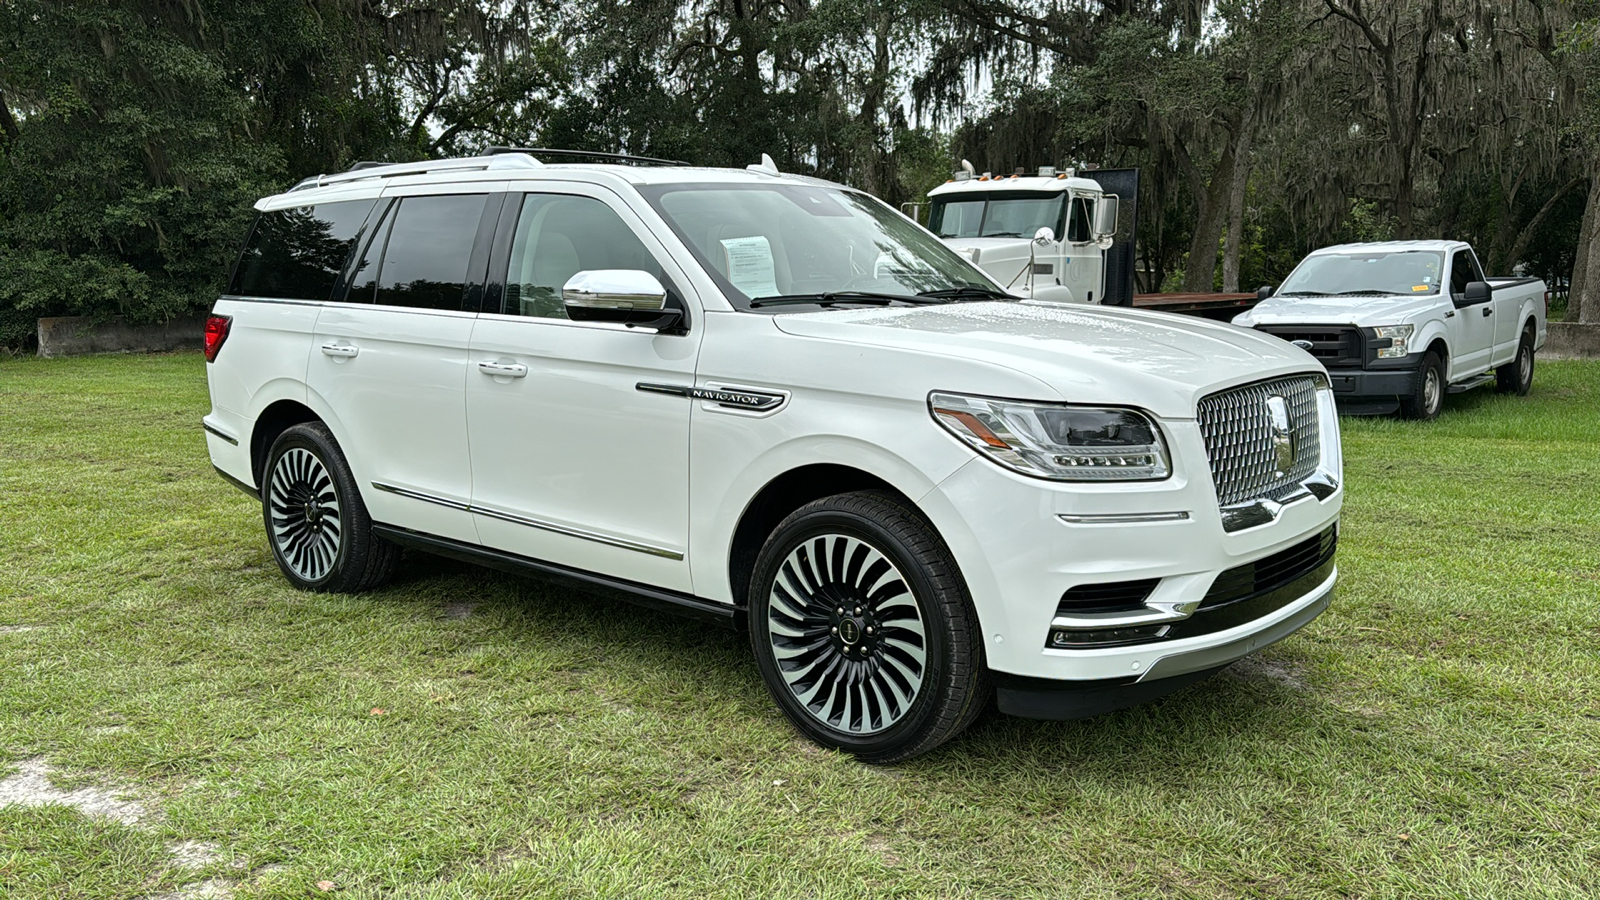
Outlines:
{"type": "Polygon", "coordinates": [[[278,569],[302,591],[366,591],[400,564],[400,548],[373,533],[344,452],[320,421],[291,426],[272,442],[261,519],[278,569]]]}

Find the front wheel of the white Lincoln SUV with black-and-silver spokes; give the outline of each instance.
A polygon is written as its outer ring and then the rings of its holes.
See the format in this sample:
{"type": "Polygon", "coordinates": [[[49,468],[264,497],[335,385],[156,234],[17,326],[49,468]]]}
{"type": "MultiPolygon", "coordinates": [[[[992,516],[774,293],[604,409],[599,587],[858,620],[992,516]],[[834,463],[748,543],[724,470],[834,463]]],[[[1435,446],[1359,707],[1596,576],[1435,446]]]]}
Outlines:
{"type": "Polygon", "coordinates": [[[822,746],[898,762],[989,705],[982,634],[955,559],[888,493],[840,493],[792,512],[762,546],[749,596],[762,679],[822,746]]]}

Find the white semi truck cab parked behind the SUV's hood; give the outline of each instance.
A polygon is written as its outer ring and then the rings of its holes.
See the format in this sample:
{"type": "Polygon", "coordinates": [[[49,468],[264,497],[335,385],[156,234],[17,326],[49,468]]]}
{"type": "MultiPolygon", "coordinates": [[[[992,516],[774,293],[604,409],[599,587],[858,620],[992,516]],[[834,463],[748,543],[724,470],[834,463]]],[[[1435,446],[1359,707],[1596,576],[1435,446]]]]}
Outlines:
{"type": "Polygon", "coordinates": [[[1118,197],[1072,170],[963,171],[928,192],[928,229],[1011,293],[1056,303],[1106,298],[1118,197]]]}

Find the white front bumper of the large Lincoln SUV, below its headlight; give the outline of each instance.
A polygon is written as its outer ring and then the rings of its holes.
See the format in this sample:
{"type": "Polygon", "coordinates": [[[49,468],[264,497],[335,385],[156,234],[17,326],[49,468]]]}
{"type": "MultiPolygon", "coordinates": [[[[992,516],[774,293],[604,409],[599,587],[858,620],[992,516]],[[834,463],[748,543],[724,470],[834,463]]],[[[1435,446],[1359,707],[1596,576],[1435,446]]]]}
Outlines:
{"type": "MultiPolygon", "coordinates": [[[[1338,424],[1328,421],[1336,420],[1331,400],[1325,400],[1322,415],[1326,460],[1342,479],[1338,424]]],[[[1165,480],[1045,482],[973,460],[918,501],[966,578],[987,665],[1013,698],[1021,697],[1016,692],[1037,692],[1037,681],[1078,690],[1117,689],[1117,705],[1125,705],[1120,700],[1126,697],[1138,701],[1141,692],[1155,689],[1130,693],[1126,687],[1227,665],[1285,637],[1326,607],[1336,578],[1331,552],[1312,564],[1315,570],[1294,569],[1291,583],[1274,583],[1278,596],[1272,602],[1254,605],[1259,593],[1250,594],[1256,618],[1202,626],[1213,615],[1206,612],[1213,609],[1213,588],[1226,583],[1219,578],[1293,557],[1296,548],[1331,536],[1344,490],[1334,484],[1320,496],[1298,496],[1274,509],[1270,519],[1230,532],[1211,487],[1198,423],[1168,420],[1162,428],[1173,456],[1173,474],[1165,480]],[[1117,645],[1051,645],[1069,589],[1130,581],[1154,586],[1142,597],[1144,609],[1133,617],[1115,615],[1130,626],[1173,623],[1168,633],[1117,645]]],[[[1005,703],[1016,708],[1032,701],[1005,703]]]]}

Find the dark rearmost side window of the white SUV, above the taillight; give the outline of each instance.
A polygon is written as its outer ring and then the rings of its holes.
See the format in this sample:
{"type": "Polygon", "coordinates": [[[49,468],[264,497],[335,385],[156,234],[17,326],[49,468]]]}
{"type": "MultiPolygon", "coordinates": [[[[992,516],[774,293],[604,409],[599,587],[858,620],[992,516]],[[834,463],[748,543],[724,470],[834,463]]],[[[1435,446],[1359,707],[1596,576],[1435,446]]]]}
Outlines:
{"type": "Polygon", "coordinates": [[[227,293],[328,299],[376,200],[341,200],[256,218],[227,293]]]}

